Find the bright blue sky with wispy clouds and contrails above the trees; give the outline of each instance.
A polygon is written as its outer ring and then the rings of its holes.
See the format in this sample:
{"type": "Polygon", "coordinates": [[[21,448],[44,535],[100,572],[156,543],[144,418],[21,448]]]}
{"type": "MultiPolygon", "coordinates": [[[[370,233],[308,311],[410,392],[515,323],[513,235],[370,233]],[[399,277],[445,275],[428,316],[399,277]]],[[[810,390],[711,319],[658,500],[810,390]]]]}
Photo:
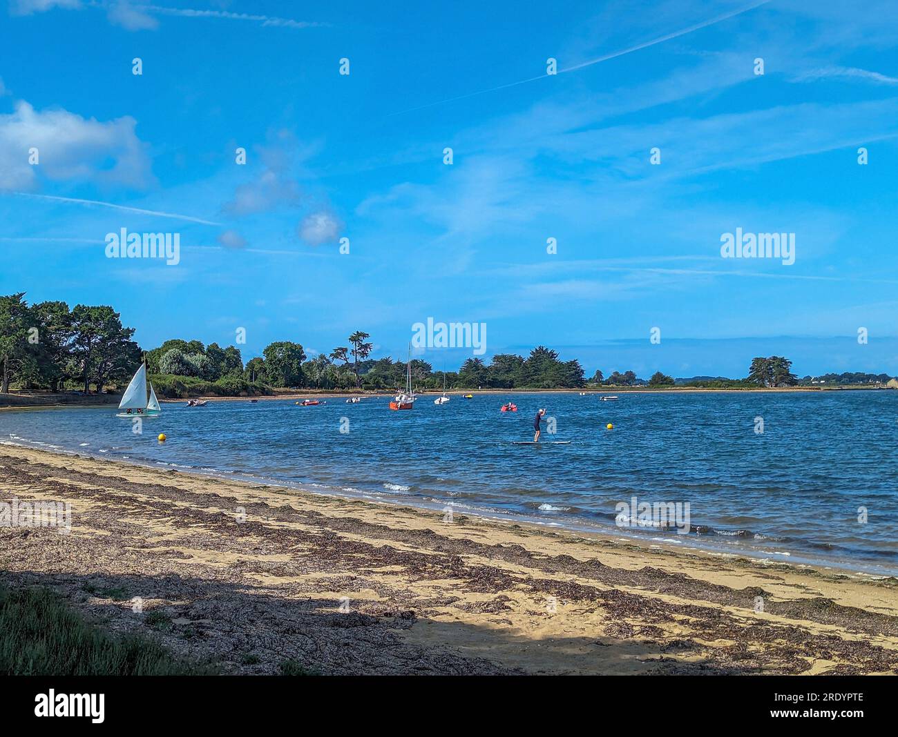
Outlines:
{"type": "Polygon", "coordinates": [[[896,45],[885,2],[12,0],[0,292],[113,305],[147,349],[245,327],[244,359],[399,357],[432,316],[589,374],[898,374],[896,45]],[[107,258],[121,228],[180,264],[107,258]],[[722,258],[736,228],[795,264],[722,258]]]}

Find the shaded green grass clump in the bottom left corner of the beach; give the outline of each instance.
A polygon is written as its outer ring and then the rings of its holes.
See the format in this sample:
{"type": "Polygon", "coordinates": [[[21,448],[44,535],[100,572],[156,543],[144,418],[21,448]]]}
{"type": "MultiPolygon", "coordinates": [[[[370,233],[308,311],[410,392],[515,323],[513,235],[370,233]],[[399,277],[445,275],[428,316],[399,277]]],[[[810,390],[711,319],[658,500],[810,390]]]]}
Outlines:
{"type": "Polygon", "coordinates": [[[136,635],[92,625],[48,588],[0,585],[0,674],[199,675],[213,670],[136,635]]]}

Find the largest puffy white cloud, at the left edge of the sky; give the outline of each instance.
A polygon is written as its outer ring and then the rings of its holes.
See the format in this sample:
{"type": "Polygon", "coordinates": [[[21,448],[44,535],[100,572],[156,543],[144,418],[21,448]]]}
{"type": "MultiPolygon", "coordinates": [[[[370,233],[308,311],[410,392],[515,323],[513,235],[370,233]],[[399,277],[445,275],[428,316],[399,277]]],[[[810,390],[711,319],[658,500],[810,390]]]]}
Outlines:
{"type": "Polygon", "coordinates": [[[0,115],[0,190],[33,189],[39,172],[57,181],[143,189],[153,176],[135,126],[133,117],[101,123],[63,109],[37,111],[20,100],[12,113],[0,115]],[[32,148],[40,166],[29,163],[32,148]]]}

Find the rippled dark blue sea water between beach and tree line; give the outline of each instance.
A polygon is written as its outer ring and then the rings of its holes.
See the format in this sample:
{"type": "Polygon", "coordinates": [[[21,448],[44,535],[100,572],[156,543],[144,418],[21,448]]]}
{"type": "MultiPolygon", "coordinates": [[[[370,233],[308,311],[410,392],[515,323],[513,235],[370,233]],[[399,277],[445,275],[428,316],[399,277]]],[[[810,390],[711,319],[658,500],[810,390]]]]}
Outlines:
{"type": "Polygon", "coordinates": [[[388,401],[163,403],[141,434],[112,407],[4,411],[0,442],[898,574],[898,392],[423,395],[409,412],[388,401]],[[509,400],[518,412],[499,412],[509,400]],[[512,445],[533,439],[540,407],[541,439],[569,445],[512,445]],[[688,504],[688,534],[616,525],[634,497],[688,504]]]}

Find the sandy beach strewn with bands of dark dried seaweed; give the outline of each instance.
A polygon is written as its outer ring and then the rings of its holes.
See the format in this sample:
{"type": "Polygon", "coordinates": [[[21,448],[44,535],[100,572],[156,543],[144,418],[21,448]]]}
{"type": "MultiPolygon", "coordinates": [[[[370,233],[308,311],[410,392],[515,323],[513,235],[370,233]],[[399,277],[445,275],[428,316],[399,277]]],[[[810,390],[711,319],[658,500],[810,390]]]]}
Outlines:
{"type": "Polygon", "coordinates": [[[0,580],[225,673],[898,672],[894,578],[12,446],[0,490],[72,505],[0,580]]]}

